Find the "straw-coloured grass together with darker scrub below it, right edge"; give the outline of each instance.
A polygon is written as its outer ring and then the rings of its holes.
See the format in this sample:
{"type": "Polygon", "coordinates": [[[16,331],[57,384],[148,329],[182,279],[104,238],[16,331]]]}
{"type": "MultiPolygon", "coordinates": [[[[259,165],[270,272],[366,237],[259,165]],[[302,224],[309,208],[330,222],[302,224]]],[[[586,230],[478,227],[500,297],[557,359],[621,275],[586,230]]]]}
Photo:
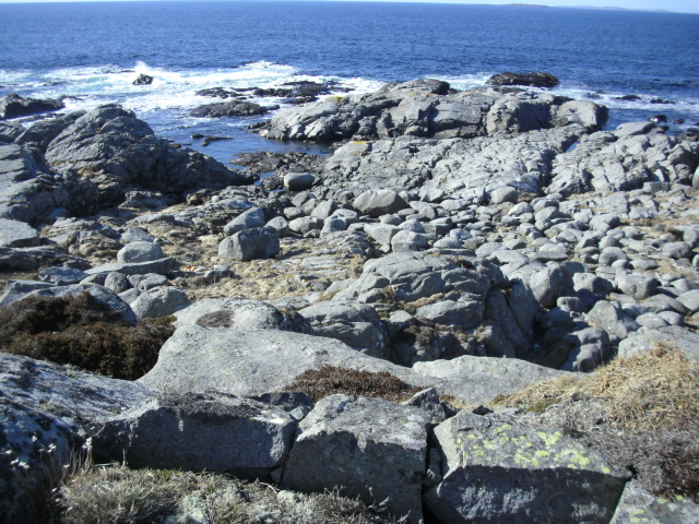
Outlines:
{"type": "Polygon", "coordinates": [[[574,413],[576,405],[590,408],[594,402],[602,403],[597,426],[580,432],[570,420],[571,434],[655,496],[699,502],[699,364],[672,345],[617,358],[581,379],[562,377],[499,395],[491,407],[520,407],[529,417],[567,407],[574,413]]]}

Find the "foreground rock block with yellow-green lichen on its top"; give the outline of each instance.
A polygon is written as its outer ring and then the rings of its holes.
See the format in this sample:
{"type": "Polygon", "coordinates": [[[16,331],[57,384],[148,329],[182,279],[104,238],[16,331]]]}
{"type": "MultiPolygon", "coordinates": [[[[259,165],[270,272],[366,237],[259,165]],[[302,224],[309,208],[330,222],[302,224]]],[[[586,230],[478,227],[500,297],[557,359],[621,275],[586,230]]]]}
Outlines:
{"type": "Polygon", "coordinates": [[[425,496],[440,522],[608,522],[625,475],[559,430],[460,412],[435,428],[443,480],[425,496]]]}

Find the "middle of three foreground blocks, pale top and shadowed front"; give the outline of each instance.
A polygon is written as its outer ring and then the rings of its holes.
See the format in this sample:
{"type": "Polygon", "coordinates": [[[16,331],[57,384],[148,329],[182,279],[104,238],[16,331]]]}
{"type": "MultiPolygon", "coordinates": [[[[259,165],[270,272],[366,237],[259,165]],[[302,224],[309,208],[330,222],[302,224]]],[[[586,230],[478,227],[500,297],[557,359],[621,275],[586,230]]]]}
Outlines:
{"type": "Polygon", "coordinates": [[[323,492],[343,486],[366,503],[422,522],[429,415],[380,398],[331,395],[299,424],[282,486],[323,492]],[[351,464],[352,467],[347,467],[351,464]]]}

